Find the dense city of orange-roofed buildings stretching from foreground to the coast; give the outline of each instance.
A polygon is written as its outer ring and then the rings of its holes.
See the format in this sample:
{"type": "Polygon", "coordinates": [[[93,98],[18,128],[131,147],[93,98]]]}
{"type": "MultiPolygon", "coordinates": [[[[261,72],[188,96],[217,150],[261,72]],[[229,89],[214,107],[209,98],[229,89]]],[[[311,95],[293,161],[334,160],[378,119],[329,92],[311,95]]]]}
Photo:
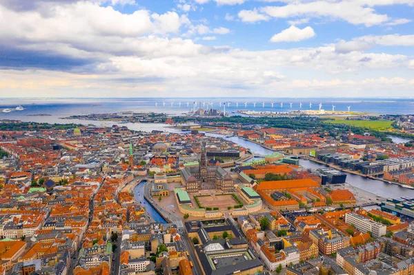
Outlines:
{"type": "Polygon", "coordinates": [[[205,113],[3,119],[0,273],[414,272],[413,117],[205,113]]]}

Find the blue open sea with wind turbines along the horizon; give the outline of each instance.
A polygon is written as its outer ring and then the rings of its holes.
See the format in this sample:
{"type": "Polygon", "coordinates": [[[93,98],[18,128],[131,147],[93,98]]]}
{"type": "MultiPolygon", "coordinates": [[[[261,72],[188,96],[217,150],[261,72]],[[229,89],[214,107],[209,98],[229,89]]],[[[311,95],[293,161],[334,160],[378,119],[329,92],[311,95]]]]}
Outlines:
{"type": "Polygon", "coordinates": [[[289,98],[114,98],[114,99],[1,99],[0,111],[10,109],[12,112],[0,112],[0,119],[19,119],[48,123],[68,123],[61,119],[65,116],[84,114],[105,114],[116,112],[157,112],[166,114],[188,113],[195,108],[224,110],[237,114],[237,111],[273,111],[288,112],[290,110],[318,110],[367,112],[371,114],[414,114],[414,99],[289,99],[289,98]],[[220,106],[221,103],[221,106],[220,106]],[[273,103],[273,107],[272,107],[273,103]],[[291,103],[291,104],[290,104],[291,103]],[[302,103],[302,105],[301,105],[302,103]],[[17,111],[17,106],[23,111],[17,111]],[[50,116],[32,116],[49,114],[50,116]]]}

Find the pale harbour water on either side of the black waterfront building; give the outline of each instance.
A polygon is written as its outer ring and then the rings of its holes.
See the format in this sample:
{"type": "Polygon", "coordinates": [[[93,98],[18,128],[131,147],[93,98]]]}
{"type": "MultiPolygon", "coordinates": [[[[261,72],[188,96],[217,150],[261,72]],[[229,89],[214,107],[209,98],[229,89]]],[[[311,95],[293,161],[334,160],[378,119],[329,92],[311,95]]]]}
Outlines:
{"type": "MultiPolygon", "coordinates": [[[[299,164],[306,168],[318,169],[326,168],[325,165],[301,159],[299,164]]],[[[410,190],[399,185],[391,183],[384,183],[383,181],[377,181],[372,179],[365,179],[363,176],[357,176],[354,174],[346,173],[346,182],[354,185],[362,190],[366,190],[378,196],[385,198],[400,198],[402,196],[414,196],[414,190],[410,190]]]]}

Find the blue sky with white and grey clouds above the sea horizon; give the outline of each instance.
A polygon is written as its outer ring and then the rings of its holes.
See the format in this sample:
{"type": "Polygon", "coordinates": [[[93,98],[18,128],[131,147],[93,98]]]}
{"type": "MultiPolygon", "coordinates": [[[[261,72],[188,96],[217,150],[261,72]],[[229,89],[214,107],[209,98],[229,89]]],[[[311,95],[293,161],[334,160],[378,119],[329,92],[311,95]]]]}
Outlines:
{"type": "Polygon", "coordinates": [[[414,0],[0,0],[0,97],[411,97],[414,0]]]}

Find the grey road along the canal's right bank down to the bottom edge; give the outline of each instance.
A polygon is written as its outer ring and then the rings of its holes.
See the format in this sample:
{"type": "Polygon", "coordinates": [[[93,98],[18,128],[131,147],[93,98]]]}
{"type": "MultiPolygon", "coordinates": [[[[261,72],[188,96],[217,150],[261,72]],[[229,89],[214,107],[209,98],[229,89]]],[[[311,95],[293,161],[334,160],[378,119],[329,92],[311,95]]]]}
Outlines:
{"type": "MultiPolygon", "coordinates": [[[[199,263],[197,262],[197,258],[195,257],[195,252],[193,249],[193,245],[190,243],[192,240],[188,238],[188,235],[186,233],[186,229],[184,228],[184,223],[181,220],[181,217],[175,215],[174,213],[167,212],[166,210],[162,209],[155,203],[155,201],[152,200],[150,196],[150,179],[147,180],[146,183],[144,183],[144,196],[147,199],[147,201],[152,205],[152,207],[156,208],[157,211],[161,214],[161,216],[164,216],[166,221],[169,221],[170,223],[173,223],[177,225],[177,230],[181,236],[181,240],[184,243],[185,249],[188,251],[188,254],[190,256],[188,257],[188,261],[193,261],[194,268],[193,273],[194,275],[202,275],[201,268],[199,266],[199,263]]],[[[173,196],[173,195],[172,195],[173,196]]]]}

